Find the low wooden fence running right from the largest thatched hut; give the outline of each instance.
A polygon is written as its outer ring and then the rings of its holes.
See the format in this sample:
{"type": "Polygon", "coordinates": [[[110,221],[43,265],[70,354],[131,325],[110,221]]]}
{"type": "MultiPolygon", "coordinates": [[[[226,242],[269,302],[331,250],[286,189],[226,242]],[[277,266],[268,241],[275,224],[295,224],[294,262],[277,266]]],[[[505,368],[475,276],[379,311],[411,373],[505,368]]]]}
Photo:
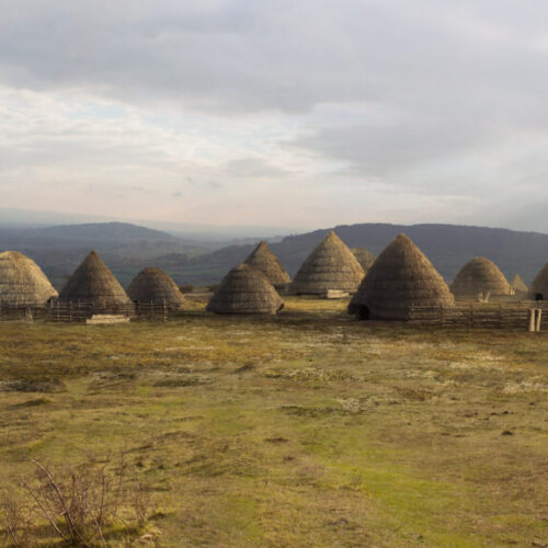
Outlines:
{"type": "MultiPolygon", "coordinates": [[[[465,327],[470,329],[527,330],[530,310],[547,310],[546,302],[469,304],[455,308],[413,307],[409,322],[419,326],[465,327]]],[[[548,320],[548,318],[547,318],[548,320]]]]}

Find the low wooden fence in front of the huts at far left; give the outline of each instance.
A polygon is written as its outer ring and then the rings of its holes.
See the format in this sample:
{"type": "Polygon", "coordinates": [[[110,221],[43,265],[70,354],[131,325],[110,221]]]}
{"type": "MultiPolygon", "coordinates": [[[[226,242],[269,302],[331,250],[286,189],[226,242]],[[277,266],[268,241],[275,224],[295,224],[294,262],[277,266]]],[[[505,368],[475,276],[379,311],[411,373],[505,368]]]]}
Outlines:
{"type": "Polygon", "coordinates": [[[135,302],[128,305],[99,305],[96,302],[0,304],[0,321],[59,321],[84,322],[96,316],[126,317],[132,321],[167,321],[173,312],[165,302],[135,302]]]}

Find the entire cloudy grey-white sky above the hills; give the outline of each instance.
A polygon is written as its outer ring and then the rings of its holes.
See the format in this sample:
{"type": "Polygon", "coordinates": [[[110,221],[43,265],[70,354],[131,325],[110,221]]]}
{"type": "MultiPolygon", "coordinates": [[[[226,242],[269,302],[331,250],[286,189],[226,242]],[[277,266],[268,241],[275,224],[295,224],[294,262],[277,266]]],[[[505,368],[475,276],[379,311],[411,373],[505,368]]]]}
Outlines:
{"type": "Polygon", "coordinates": [[[1,207],[548,231],[541,0],[0,0],[1,207]]]}

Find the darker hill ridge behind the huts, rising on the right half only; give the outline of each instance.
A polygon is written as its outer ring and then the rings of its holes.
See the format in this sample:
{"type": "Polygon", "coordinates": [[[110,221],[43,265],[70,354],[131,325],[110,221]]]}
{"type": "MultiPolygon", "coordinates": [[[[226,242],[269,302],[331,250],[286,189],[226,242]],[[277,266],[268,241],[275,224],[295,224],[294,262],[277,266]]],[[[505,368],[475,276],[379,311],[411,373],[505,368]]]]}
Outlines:
{"type": "MultiPolygon", "coordinates": [[[[548,262],[548,235],[522,232],[505,228],[460,225],[339,225],[302,235],[287,236],[271,248],[292,276],[308,253],[334,230],[351,248],[363,247],[378,255],[400,232],[408,235],[426,254],[447,282],[453,281],[460,267],[473,256],[487,256],[500,266],[506,277],[520,273],[530,284],[538,271],[548,262]]],[[[189,262],[190,278],[207,275],[208,281],[243,261],[253,246],[232,246],[196,256],[189,262]]]]}

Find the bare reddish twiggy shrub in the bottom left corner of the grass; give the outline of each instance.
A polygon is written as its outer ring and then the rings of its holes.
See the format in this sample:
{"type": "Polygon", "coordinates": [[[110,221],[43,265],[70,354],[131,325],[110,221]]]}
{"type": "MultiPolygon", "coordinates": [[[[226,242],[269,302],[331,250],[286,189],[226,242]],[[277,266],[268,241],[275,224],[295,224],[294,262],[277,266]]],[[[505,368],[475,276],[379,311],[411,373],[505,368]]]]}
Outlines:
{"type": "Polygon", "coordinates": [[[106,546],[110,529],[139,528],[150,516],[149,490],[128,473],[122,459],[65,469],[32,463],[34,473],[20,481],[24,502],[7,498],[2,504],[2,528],[15,547],[38,540],[44,522],[54,537],[70,546],[106,546]]]}

